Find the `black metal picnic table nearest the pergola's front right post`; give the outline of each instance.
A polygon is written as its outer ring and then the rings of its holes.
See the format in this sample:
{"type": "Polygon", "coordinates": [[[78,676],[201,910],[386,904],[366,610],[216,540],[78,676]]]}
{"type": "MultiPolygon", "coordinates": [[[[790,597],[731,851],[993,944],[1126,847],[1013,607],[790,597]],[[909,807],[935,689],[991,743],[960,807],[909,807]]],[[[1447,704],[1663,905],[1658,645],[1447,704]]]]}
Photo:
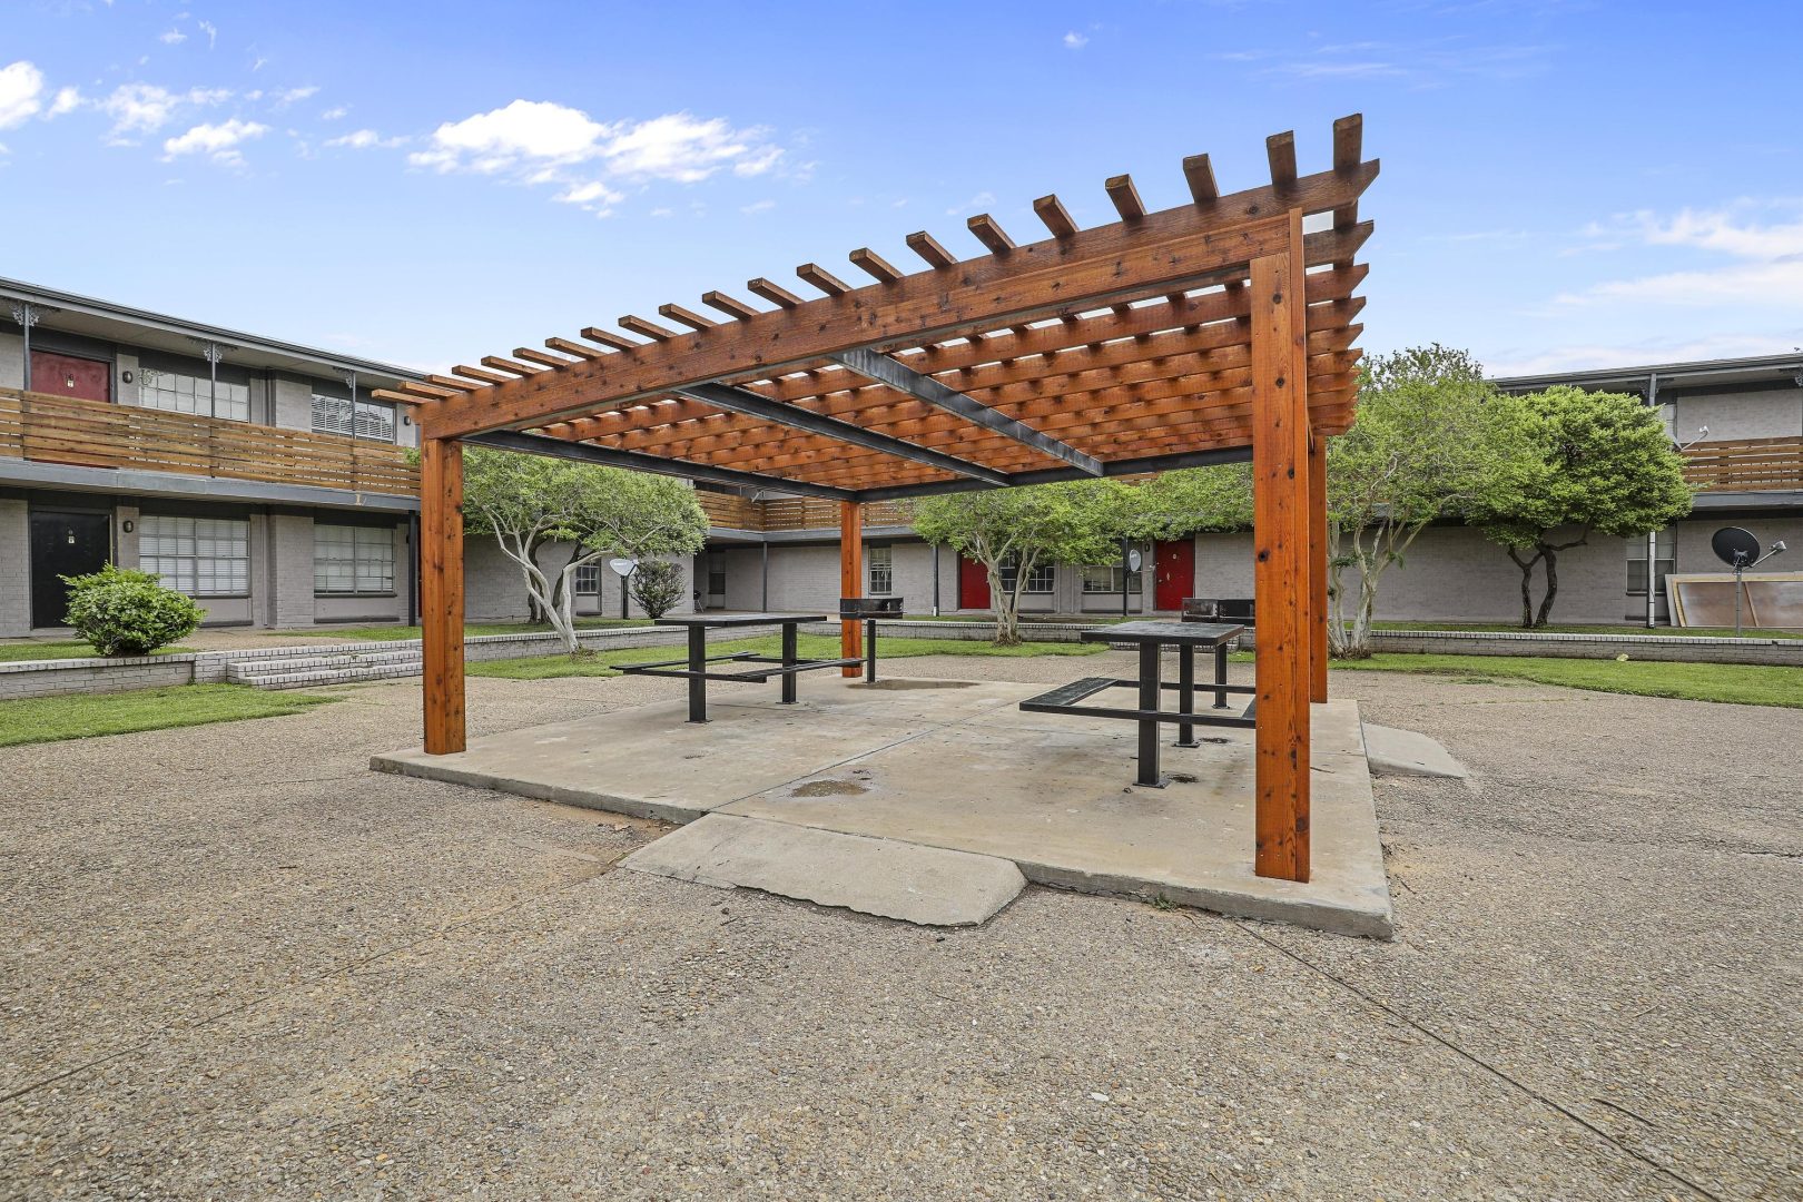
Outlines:
{"type": "Polygon", "coordinates": [[[1215,679],[1206,685],[1215,694],[1215,710],[1226,710],[1228,694],[1255,694],[1249,685],[1228,683],[1228,645],[1246,633],[1244,625],[1213,622],[1120,622],[1093,631],[1084,631],[1085,643],[1132,643],[1139,649],[1138,679],[1118,679],[1111,676],[1087,676],[1028,697],[1022,710],[1033,714],[1076,714],[1080,717],[1120,717],[1139,723],[1139,777],[1134,784],[1165,788],[1167,780],[1158,771],[1158,728],[1159,723],[1177,726],[1177,746],[1201,746],[1195,739],[1195,726],[1253,726],[1253,708],[1249,703],[1242,714],[1197,714],[1195,712],[1195,652],[1212,651],[1215,654],[1215,679]],[[1177,649],[1177,683],[1165,683],[1161,674],[1161,651],[1172,645],[1177,649]],[[1138,688],[1139,703],[1134,708],[1084,705],[1084,701],[1107,688],[1138,688]],[[1161,710],[1159,699],[1167,688],[1177,692],[1177,708],[1161,710]]]}

